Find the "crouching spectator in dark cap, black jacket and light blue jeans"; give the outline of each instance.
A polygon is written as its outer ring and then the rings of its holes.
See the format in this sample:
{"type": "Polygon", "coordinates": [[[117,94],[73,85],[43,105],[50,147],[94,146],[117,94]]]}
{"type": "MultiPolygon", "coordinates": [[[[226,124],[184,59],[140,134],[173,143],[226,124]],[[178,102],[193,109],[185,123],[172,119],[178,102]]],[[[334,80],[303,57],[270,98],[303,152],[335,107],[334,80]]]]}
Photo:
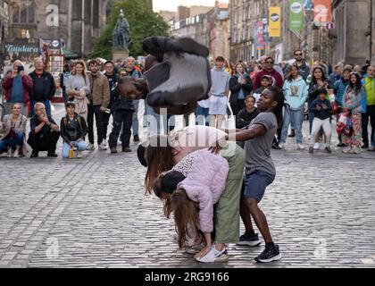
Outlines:
{"type": "Polygon", "coordinates": [[[63,138],[63,158],[69,158],[69,151],[74,147],[78,150],[77,157],[82,157],[80,152],[87,149],[85,142],[87,123],[82,116],[75,113],[75,105],[72,101],[66,104],[66,115],[60,122],[60,130],[62,130],[61,136],[63,138]]]}

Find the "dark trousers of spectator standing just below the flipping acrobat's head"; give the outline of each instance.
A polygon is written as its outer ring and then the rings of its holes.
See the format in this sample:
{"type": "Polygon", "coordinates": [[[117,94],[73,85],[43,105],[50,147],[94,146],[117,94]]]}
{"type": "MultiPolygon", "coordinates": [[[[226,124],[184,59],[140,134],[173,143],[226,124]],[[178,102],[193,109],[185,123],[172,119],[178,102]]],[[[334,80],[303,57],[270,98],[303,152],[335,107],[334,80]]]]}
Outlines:
{"type": "Polygon", "coordinates": [[[117,110],[113,113],[113,128],[109,138],[109,146],[116,147],[117,139],[119,139],[121,125],[122,134],[121,142],[122,147],[129,147],[131,136],[131,125],[133,124],[133,113],[127,110],[117,110]]]}

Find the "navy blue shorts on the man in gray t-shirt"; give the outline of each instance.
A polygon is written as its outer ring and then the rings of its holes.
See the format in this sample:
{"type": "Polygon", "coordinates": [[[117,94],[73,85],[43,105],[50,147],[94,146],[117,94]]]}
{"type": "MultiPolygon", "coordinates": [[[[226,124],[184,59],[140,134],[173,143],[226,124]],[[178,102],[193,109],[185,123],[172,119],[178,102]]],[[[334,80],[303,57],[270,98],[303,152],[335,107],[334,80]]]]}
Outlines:
{"type": "Polygon", "coordinates": [[[250,174],[245,174],[242,184],[241,198],[254,198],[261,202],[265,189],[275,180],[275,175],[269,172],[256,170],[250,174]]]}

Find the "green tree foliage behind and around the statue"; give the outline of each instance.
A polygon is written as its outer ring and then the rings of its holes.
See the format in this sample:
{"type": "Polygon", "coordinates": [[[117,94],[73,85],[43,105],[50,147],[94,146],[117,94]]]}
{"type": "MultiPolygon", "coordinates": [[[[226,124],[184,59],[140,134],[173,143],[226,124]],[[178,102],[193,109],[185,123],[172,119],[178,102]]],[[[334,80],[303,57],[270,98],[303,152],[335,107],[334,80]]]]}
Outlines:
{"type": "Polygon", "coordinates": [[[145,55],[142,42],[151,36],[169,36],[168,24],[163,21],[158,13],[146,10],[146,1],[118,0],[112,5],[112,14],[108,19],[100,38],[96,40],[94,51],[90,57],[103,57],[112,59],[112,33],[119,18],[120,10],[129,21],[129,55],[145,55]]]}

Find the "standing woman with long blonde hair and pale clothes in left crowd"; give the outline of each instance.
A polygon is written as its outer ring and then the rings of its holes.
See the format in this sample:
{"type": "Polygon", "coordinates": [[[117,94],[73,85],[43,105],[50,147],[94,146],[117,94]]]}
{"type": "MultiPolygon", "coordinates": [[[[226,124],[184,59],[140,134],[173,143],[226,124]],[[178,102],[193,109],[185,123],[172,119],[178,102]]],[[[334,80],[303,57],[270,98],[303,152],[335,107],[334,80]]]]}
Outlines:
{"type": "Polygon", "coordinates": [[[91,83],[87,76],[87,68],[84,61],[74,63],[74,69],[68,79],[66,93],[69,101],[76,106],[76,113],[87,121],[88,97],[91,93],[91,83]]]}

